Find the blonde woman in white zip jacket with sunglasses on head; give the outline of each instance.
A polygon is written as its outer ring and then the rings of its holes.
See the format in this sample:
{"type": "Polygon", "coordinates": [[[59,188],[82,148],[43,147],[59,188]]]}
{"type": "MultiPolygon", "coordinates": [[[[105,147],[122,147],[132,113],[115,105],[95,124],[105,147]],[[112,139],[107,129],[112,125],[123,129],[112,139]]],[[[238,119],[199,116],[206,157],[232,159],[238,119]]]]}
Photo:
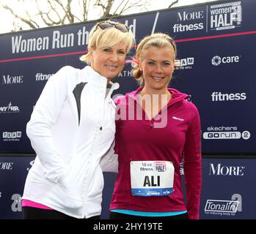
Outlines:
{"type": "Polygon", "coordinates": [[[99,219],[103,173],[116,171],[106,154],[114,140],[112,83],[134,35],[122,23],[97,23],[84,69],[62,67],[43,88],[26,133],[37,156],[26,178],[24,219],[99,219]]]}

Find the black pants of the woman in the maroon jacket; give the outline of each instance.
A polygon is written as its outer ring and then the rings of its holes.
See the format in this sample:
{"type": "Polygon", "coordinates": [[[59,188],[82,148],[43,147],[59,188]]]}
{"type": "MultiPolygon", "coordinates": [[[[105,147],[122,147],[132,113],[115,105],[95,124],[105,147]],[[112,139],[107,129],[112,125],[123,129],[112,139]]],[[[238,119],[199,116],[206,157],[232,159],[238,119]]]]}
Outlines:
{"type": "Polygon", "coordinates": [[[188,213],[185,213],[185,214],[178,214],[173,216],[149,217],[149,216],[121,214],[121,213],[110,211],[110,219],[189,219],[189,216],[188,216],[188,213]]]}

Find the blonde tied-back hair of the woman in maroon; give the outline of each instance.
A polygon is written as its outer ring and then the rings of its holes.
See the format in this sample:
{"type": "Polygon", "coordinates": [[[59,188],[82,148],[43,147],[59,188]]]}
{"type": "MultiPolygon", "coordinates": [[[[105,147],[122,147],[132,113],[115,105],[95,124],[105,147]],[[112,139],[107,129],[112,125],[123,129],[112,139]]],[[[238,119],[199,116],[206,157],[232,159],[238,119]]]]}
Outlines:
{"type": "MultiPolygon", "coordinates": [[[[154,46],[156,48],[170,47],[174,51],[174,60],[177,56],[177,47],[172,37],[169,37],[169,35],[167,34],[156,33],[156,34],[152,34],[150,36],[144,37],[141,40],[141,42],[139,42],[139,45],[136,49],[135,61],[139,61],[139,59],[142,60],[143,53],[145,52],[145,50],[147,50],[151,46],[154,46]]],[[[138,81],[139,85],[142,86],[144,83],[144,78],[143,78],[142,71],[139,70],[139,64],[134,63],[133,66],[134,66],[134,69],[132,71],[132,75],[138,81]]]]}

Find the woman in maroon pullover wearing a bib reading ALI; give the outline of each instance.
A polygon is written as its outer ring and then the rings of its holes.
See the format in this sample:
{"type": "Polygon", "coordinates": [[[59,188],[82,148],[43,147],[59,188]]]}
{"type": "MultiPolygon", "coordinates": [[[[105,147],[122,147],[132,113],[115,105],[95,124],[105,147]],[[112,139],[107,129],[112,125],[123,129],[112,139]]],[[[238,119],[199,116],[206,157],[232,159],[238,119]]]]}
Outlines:
{"type": "Polygon", "coordinates": [[[142,39],[133,70],[142,86],[115,100],[119,173],[111,219],[199,219],[200,116],[189,95],[167,88],[175,56],[175,42],[167,34],[142,39]]]}

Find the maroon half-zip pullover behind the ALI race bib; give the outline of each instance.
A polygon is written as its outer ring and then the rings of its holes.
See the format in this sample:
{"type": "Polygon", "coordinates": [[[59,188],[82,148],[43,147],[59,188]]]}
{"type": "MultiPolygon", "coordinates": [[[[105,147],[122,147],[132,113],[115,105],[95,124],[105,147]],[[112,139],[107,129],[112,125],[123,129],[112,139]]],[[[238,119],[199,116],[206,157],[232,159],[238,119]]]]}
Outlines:
{"type": "Polygon", "coordinates": [[[119,173],[110,210],[145,212],[188,211],[189,219],[199,219],[201,192],[201,132],[197,107],[174,88],[167,107],[152,120],[137,103],[136,91],[118,97],[115,151],[119,173]],[[165,111],[165,112],[164,112],[165,111]],[[119,118],[119,119],[118,119],[119,118]],[[171,195],[139,197],[131,194],[131,161],[170,161],[175,167],[171,195]],[[183,160],[186,200],[183,198],[180,162],[183,160]]]}

